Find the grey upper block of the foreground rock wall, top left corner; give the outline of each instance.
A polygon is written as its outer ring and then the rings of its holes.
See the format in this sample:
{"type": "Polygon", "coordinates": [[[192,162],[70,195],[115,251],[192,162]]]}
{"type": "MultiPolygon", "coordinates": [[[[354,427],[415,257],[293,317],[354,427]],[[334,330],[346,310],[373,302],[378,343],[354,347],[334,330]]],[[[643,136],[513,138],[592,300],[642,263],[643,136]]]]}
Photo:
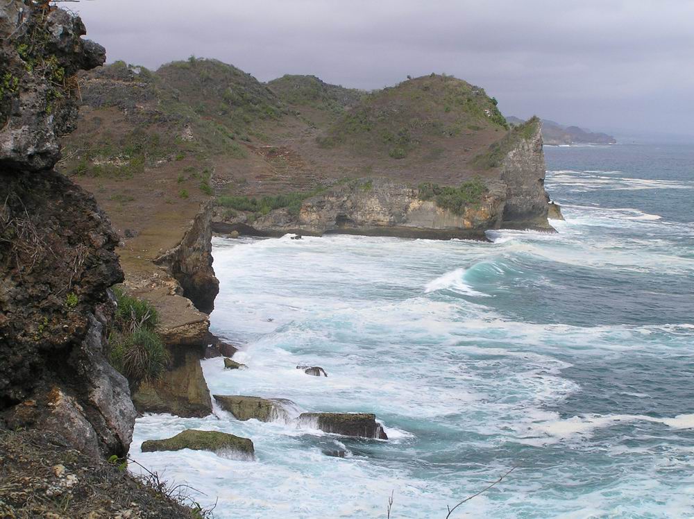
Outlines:
{"type": "Polygon", "coordinates": [[[77,116],[78,87],[72,78],[105,60],[101,45],[81,39],[85,33],[82,20],[65,10],[3,1],[0,72],[9,88],[0,98],[2,169],[41,171],[58,161],[58,138],[74,129],[77,116]],[[29,61],[48,65],[27,67],[29,61]],[[60,74],[65,87],[58,87],[51,74],[60,74]]]}

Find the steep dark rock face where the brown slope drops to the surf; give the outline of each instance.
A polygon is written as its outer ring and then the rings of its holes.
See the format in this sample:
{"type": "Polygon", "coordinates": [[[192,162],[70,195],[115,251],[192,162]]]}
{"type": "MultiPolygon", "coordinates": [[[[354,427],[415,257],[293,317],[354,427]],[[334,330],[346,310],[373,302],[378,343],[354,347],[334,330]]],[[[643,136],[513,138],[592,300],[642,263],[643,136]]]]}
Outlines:
{"type": "Polygon", "coordinates": [[[212,269],[212,202],[203,204],[180,244],[155,259],[166,266],[183,287],[183,295],[201,312],[214,309],[219,293],[219,280],[212,269]]]}

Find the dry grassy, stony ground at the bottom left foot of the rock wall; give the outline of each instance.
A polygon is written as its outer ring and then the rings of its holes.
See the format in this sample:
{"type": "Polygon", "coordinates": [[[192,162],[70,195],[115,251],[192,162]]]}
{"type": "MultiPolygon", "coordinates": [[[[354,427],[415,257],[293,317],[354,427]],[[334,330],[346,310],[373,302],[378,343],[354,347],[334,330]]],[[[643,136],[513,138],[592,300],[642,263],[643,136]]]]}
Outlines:
{"type": "MultiPolygon", "coordinates": [[[[119,464],[92,457],[58,433],[0,429],[0,517],[200,518],[119,464]]],[[[169,479],[169,484],[176,484],[169,479]]],[[[203,507],[214,505],[203,497],[203,507]]]]}

